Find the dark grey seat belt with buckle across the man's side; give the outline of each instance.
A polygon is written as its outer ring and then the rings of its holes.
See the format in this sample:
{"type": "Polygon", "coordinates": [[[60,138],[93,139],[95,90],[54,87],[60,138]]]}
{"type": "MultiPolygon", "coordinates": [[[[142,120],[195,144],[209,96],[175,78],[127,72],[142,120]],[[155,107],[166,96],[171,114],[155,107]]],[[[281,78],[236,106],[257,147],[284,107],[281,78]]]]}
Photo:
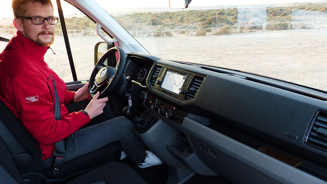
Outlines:
{"type": "MultiPolygon", "coordinates": [[[[54,96],[55,96],[55,120],[58,121],[61,118],[59,97],[58,97],[55,80],[53,80],[52,76],[51,76],[51,78],[52,78],[52,82],[53,82],[53,89],[55,92],[55,94],[54,94],[54,96]]],[[[54,179],[57,178],[59,169],[62,168],[64,157],[67,156],[67,151],[65,151],[65,144],[64,144],[63,140],[56,142],[55,147],[56,147],[56,149],[53,151],[53,155],[55,156],[55,161],[53,163],[53,178],[54,179]]]]}

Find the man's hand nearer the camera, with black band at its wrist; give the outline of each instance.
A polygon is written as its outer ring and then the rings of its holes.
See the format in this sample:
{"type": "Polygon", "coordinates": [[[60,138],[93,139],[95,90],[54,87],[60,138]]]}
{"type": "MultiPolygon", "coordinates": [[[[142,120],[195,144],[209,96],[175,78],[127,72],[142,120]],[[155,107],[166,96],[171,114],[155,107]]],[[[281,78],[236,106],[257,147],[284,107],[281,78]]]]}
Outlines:
{"type": "Polygon", "coordinates": [[[106,106],[108,97],[98,99],[100,92],[97,92],[93,99],[90,101],[89,105],[86,106],[85,111],[89,114],[90,119],[96,117],[103,113],[103,108],[106,106]]]}

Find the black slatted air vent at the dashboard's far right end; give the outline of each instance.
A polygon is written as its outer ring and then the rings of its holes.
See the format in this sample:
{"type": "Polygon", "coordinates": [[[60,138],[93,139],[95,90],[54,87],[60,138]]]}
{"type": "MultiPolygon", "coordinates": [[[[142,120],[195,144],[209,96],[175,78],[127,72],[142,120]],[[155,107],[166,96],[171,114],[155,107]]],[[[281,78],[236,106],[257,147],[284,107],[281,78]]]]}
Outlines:
{"type": "Polygon", "coordinates": [[[327,113],[319,111],[306,138],[306,143],[327,151],[327,113]]]}

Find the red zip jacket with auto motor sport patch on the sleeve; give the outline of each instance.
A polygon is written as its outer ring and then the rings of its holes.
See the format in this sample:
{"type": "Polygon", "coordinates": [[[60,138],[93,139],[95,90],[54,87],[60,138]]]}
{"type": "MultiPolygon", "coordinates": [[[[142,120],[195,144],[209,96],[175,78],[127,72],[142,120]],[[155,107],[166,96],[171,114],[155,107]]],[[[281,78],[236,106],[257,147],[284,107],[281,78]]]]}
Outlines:
{"type": "Polygon", "coordinates": [[[68,114],[65,105],[74,100],[75,92],[67,91],[64,81],[44,62],[46,51],[47,47],[37,45],[17,31],[0,54],[0,98],[39,142],[43,160],[53,155],[54,143],[90,122],[83,112],[68,114]],[[58,121],[54,115],[51,75],[60,102],[58,121]]]}

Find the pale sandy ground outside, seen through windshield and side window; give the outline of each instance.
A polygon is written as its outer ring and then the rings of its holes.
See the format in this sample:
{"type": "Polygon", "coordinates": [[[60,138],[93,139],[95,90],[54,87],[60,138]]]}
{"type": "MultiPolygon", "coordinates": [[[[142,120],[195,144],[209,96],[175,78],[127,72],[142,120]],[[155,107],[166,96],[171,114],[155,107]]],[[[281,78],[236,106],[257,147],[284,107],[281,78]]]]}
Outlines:
{"type": "MultiPolygon", "coordinates": [[[[0,36],[9,38],[8,34],[0,36]]],[[[222,36],[137,37],[153,55],[250,73],[327,91],[327,29],[245,32],[222,36]],[[195,47],[196,46],[196,47],[195,47]]],[[[93,70],[95,36],[70,37],[78,79],[93,70]]],[[[5,47],[0,42],[0,50],[5,47]]],[[[65,82],[72,81],[63,37],[56,37],[45,60],[65,82]]]]}

